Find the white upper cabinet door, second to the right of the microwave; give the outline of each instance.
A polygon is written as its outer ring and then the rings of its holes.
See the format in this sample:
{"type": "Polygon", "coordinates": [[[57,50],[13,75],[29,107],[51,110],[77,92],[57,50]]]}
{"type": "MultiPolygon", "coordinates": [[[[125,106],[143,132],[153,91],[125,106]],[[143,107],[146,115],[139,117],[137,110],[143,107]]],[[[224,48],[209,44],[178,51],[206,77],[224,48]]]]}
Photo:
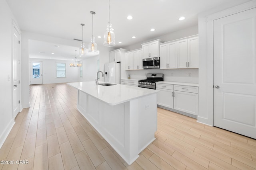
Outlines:
{"type": "Polygon", "coordinates": [[[177,42],[169,43],[167,49],[168,49],[168,55],[167,55],[168,68],[169,69],[177,68],[177,42]]]}

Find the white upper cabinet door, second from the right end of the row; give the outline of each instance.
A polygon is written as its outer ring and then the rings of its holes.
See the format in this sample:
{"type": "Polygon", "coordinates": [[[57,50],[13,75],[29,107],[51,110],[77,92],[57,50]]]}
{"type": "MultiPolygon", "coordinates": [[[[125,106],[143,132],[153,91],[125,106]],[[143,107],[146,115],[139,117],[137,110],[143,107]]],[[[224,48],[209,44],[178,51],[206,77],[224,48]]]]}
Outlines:
{"type": "Polygon", "coordinates": [[[177,41],[177,68],[188,68],[188,39],[177,41]]]}

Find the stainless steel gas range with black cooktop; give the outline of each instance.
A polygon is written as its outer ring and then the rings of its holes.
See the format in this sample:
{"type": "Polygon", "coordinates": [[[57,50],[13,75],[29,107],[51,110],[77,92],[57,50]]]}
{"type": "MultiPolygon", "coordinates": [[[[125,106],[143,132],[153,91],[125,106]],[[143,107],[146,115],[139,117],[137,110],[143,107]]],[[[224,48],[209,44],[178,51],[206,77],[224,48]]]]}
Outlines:
{"type": "Polygon", "coordinates": [[[156,89],[156,82],[163,80],[164,74],[147,74],[147,79],[138,81],[138,87],[156,89]]]}

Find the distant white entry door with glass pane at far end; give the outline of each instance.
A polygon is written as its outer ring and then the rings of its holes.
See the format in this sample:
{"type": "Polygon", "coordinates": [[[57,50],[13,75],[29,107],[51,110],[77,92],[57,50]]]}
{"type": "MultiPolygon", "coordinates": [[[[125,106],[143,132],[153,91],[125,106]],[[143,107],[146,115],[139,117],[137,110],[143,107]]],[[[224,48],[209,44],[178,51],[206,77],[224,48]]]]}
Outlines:
{"type": "Polygon", "coordinates": [[[43,84],[42,61],[30,61],[30,84],[43,84]]]}

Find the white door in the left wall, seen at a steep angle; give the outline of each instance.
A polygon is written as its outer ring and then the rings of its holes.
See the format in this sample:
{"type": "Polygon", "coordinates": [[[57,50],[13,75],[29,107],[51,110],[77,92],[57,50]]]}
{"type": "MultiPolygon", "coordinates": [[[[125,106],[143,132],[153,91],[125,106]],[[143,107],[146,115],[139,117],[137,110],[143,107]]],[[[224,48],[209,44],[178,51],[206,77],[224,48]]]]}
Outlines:
{"type": "Polygon", "coordinates": [[[20,106],[20,33],[16,27],[13,26],[12,34],[12,60],[13,60],[13,114],[14,118],[19,112],[20,106]]]}

